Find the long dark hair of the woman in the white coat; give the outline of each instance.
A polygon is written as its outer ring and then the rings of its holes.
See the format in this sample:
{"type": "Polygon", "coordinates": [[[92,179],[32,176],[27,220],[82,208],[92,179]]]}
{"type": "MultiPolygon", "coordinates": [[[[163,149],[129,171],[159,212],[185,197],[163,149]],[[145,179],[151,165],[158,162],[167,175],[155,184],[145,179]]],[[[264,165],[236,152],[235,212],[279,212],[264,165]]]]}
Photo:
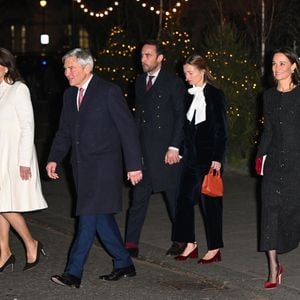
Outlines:
{"type": "Polygon", "coordinates": [[[0,65],[7,68],[4,75],[5,82],[14,84],[16,81],[23,81],[17,69],[15,57],[5,48],[0,48],[0,65]]]}

